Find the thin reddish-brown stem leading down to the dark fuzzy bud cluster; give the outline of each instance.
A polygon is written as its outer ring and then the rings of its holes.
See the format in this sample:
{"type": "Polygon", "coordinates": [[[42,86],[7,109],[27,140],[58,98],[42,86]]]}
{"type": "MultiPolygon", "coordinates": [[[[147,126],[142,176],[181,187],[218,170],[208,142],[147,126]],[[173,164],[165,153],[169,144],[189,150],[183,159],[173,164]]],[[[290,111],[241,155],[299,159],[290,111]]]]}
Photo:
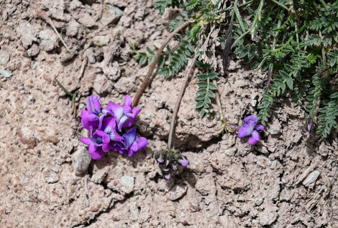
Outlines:
{"type": "Polygon", "coordinates": [[[188,84],[188,79],[189,79],[189,75],[192,71],[192,68],[195,65],[195,61],[197,59],[197,55],[195,54],[194,58],[192,59],[191,65],[189,67],[189,70],[186,74],[186,77],[184,79],[183,85],[181,87],[181,90],[179,91],[179,95],[175,104],[175,109],[174,109],[174,113],[172,114],[172,118],[171,118],[171,123],[170,123],[170,130],[169,130],[169,137],[168,137],[168,146],[167,149],[170,150],[171,149],[171,142],[172,142],[172,135],[174,134],[174,128],[175,128],[175,122],[176,122],[176,118],[177,118],[177,113],[178,113],[178,109],[179,109],[179,105],[181,103],[183,94],[184,94],[184,90],[187,87],[188,84]]]}

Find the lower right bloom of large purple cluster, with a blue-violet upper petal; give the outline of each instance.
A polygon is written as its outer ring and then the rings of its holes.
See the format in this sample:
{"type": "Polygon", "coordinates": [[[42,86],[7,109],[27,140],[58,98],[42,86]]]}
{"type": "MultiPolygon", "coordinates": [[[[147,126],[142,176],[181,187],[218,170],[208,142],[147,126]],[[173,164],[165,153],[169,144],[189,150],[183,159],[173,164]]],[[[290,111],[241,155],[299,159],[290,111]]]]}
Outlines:
{"type": "Polygon", "coordinates": [[[144,137],[139,137],[136,135],[136,127],[131,128],[127,133],[121,137],[124,147],[121,147],[122,153],[128,151],[128,155],[137,154],[136,152],[142,150],[148,145],[148,140],[144,137]]]}

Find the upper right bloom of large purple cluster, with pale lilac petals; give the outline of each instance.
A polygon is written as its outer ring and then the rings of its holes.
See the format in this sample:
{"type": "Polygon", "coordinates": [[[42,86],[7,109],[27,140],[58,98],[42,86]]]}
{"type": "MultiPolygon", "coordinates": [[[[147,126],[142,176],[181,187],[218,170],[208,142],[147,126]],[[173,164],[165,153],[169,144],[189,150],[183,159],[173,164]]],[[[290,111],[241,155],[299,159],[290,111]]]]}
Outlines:
{"type": "Polygon", "coordinates": [[[141,109],[136,107],[131,108],[131,97],[129,95],[124,97],[123,106],[109,101],[108,107],[113,114],[112,116],[116,119],[119,131],[121,131],[123,127],[130,127],[133,125],[135,123],[135,117],[141,111],[141,109]]]}

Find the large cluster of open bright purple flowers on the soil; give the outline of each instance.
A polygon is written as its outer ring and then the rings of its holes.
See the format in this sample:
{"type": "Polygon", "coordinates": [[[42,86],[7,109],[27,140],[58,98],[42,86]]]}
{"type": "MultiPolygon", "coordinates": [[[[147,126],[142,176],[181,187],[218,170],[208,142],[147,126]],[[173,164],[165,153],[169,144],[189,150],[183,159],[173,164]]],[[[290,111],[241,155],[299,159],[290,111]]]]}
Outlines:
{"type": "Polygon", "coordinates": [[[123,106],[109,101],[102,110],[99,99],[96,95],[88,97],[87,110],[81,110],[80,116],[83,128],[91,133],[81,141],[89,145],[92,158],[98,160],[110,150],[131,156],[145,148],[148,140],[137,136],[136,127],[131,127],[141,111],[131,107],[131,97],[125,96],[123,106]]]}

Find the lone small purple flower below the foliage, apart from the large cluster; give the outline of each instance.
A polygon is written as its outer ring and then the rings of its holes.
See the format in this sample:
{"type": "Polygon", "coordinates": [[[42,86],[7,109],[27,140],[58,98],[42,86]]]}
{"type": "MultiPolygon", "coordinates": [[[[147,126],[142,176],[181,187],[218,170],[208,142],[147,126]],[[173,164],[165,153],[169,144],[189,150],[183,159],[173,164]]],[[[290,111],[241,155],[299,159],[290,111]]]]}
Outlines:
{"type": "Polygon", "coordinates": [[[238,131],[238,137],[243,138],[246,136],[249,137],[249,144],[250,145],[255,145],[260,137],[259,133],[257,130],[264,130],[264,126],[261,124],[257,124],[258,118],[255,115],[251,115],[248,117],[244,117],[244,126],[242,126],[239,131],[238,131]]]}

